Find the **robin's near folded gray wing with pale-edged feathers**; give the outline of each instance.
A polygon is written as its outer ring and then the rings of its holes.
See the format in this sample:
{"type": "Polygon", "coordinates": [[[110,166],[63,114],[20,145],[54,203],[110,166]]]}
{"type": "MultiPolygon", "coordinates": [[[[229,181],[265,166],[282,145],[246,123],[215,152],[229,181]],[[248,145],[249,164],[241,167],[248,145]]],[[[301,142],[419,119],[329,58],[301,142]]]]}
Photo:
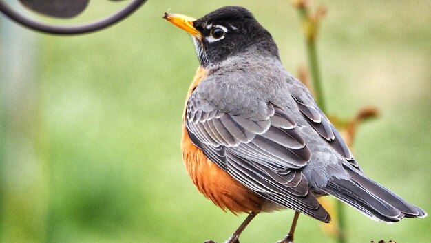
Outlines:
{"type": "Polygon", "coordinates": [[[187,103],[186,126],[192,142],[260,196],[329,222],[329,214],[301,172],[311,151],[295,121],[282,108],[235,89],[202,89],[193,92],[187,103]]]}

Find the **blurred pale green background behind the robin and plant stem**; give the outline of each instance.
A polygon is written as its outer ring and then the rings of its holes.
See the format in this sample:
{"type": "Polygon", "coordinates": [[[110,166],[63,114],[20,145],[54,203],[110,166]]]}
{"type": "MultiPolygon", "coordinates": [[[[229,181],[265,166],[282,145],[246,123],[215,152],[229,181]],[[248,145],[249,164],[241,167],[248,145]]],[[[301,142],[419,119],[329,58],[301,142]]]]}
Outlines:
{"type": "MultiPolygon", "coordinates": [[[[370,178],[431,212],[431,2],[318,1],[330,114],[366,105],[354,154],[370,178]]],[[[76,21],[125,3],[96,0],[76,21]]],[[[249,8],[297,74],[306,65],[290,1],[149,0],[132,17],[83,36],[49,36],[0,16],[0,241],[223,242],[245,215],[193,187],[180,154],[185,94],[198,66],[191,38],[162,19],[249,8]]],[[[59,21],[58,23],[67,23],[59,21]]],[[[384,224],[346,208],[350,242],[429,242],[430,218],[384,224]]],[[[259,215],[241,242],[276,242],[292,211],[259,215]]],[[[334,242],[302,216],[297,242],[334,242]]]]}

